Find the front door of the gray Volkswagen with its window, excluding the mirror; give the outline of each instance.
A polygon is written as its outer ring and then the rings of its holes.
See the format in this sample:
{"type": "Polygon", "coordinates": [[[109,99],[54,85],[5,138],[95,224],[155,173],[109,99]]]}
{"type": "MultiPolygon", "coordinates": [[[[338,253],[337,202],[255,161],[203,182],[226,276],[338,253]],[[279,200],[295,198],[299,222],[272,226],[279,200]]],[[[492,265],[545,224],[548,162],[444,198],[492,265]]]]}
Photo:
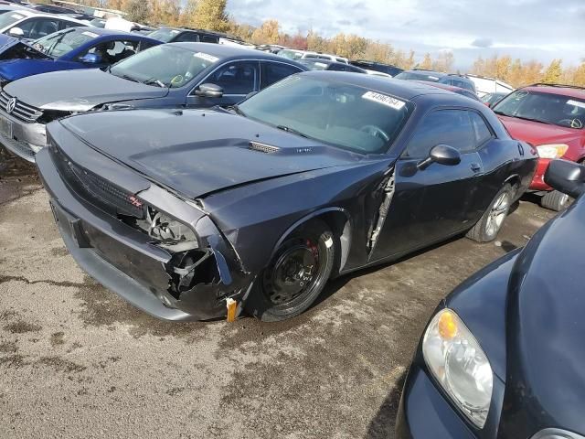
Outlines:
{"type": "Polygon", "coordinates": [[[211,107],[214,105],[229,106],[243,101],[252,91],[258,91],[260,86],[260,63],[252,60],[229,61],[211,72],[204,80],[189,93],[187,106],[211,107]],[[204,98],[197,96],[197,87],[211,83],[223,90],[220,98],[204,98]]]}

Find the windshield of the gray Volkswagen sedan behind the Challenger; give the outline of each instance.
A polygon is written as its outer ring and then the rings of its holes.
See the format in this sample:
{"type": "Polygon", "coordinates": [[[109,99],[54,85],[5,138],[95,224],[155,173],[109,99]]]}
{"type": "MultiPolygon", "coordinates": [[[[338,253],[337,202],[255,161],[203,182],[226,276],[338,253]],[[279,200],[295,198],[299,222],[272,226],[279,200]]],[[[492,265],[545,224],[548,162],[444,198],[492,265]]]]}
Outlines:
{"type": "Polygon", "coordinates": [[[174,45],[148,48],[114,65],[110,72],[127,80],[158,87],[178,88],[193,80],[218,58],[174,45]]]}

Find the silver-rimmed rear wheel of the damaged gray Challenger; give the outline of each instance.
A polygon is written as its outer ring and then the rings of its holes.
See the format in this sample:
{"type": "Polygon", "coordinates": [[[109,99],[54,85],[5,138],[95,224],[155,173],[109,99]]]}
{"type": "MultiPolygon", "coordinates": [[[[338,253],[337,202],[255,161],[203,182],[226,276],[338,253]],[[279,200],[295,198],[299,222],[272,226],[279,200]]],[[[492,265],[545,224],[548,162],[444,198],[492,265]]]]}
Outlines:
{"type": "Polygon", "coordinates": [[[498,232],[502,229],[510,206],[512,206],[513,197],[514,189],[510,185],[502,187],[490,203],[489,208],[485,210],[482,218],[477,221],[465,236],[476,242],[494,241],[498,232]]]}

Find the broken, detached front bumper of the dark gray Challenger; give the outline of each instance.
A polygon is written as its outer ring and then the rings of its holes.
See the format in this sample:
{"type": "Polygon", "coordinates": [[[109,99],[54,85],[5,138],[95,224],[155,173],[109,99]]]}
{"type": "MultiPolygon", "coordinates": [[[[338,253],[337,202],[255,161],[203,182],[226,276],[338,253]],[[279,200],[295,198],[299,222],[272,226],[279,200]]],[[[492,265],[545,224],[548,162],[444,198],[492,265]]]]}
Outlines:
{"type": "Polygon", "coordinates": [[[173,252],[80,199],[58,173],[48,148],[37,154],[37,167],[70,254],[91,277],[132,305],[165,320],[207,320],[226,316],[226,300],[230,297],[240,303],[249,290],[250,274],[243,271],[235,252],[204,212],[160,187],[145,191],[144,197],[157,198],[166,208],[180,203],[180,209],[194,213],[190,220],[199,229],[197,254],[207,255],[207,263],[196,270],[213,271],[213,275],[197,273],[203,281],[177,294],[172,288],[173,252]]]}

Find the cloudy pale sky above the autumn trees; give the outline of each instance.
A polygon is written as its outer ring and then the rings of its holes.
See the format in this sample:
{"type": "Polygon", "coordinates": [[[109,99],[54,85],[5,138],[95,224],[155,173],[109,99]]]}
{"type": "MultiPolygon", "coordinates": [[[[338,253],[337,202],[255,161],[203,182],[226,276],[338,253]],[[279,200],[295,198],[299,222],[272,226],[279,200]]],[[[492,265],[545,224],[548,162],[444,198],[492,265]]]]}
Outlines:
{"type": "Polygon", "coordinates": [[[565,66],[585,58],[585,0],[229,0],[228,11],[254,26],[276,18],[289,33],[313,27],[379,39],[418,59],[452,50],[462,70],[479,55],[565,66]]]}

